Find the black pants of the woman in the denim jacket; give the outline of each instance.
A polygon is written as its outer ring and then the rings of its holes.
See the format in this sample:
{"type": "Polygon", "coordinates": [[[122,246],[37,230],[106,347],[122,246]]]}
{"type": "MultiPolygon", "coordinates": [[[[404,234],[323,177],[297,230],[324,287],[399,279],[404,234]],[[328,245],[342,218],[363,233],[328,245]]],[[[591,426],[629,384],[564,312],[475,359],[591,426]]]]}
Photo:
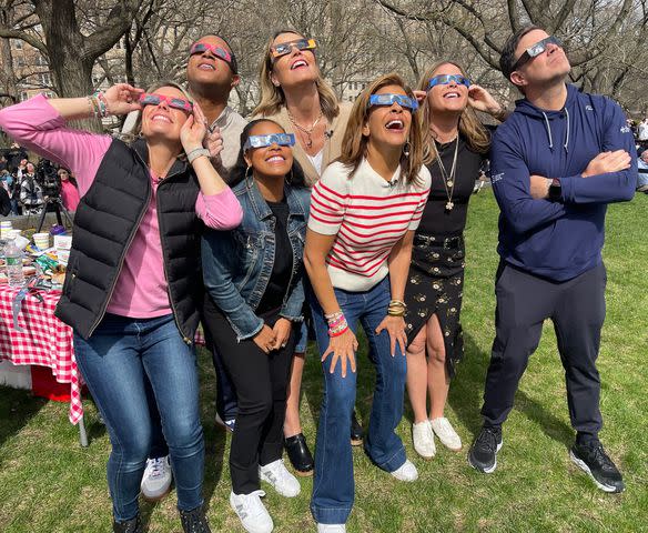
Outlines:
{"type": "MultiPolygon", "coordinates": [[[[271,328],[276,311],[262,315],[271,328]]],[[[259,490],[259,465],[270,464],[283,454],[283,423],[286,390],[296,333],[294,324],[285,348],[263,352],[253,340],[236,341],[227,319],[213,315],[212,334],[239,396],[236,429],[230,449],[230,473],[234,494],[259,490]]]]}

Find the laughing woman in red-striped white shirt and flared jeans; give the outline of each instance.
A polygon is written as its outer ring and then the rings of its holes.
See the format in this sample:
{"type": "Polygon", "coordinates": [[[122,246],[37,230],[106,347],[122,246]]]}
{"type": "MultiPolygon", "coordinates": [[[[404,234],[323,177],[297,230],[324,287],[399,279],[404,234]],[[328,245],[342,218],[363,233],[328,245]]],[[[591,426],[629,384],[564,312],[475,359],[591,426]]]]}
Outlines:
{"type": "Polygon", "coordinates": [[[340,160],[313,188],[304,264],[325,380],[311,502],[318,532],[346,531],[354,500],[348,424],[358,322],[377,374],[365,450],[398,480],[418,476],[394,432],[406,374],[403,295],[431,183],[416,108],[397,74],[368,84],[351,112],[340,160]]]}

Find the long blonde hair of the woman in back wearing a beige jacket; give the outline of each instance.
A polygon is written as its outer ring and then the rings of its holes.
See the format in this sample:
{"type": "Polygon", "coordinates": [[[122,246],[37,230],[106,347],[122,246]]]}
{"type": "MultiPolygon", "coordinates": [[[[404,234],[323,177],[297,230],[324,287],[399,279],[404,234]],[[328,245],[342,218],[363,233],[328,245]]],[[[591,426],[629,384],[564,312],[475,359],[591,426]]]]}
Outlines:
{"type": "MultiPolygon", "coordinates": [[[[273,68],[273,57],[271,52],[272,43],[282,33],[294,33],[296,36],[302,36],[295,30],[280,30],[275,32],[267,43],[265,44],[263,51],[263,60],[261,61],[261,68],[259,70],[259,80],[261,84],[261,102],[256,105],[256,109],[252,112],[253,115],[261,117],[272,117],[281,111],[282,108],[286,105],[286,97],[281,87],[276,87],[272,80],[272,68],[273,68]]],[[[322,113],[328,122],[331,122],[335,117],[340,114],[340,104],[337,102],[337,97],[333,88],[324,80],[320,68],[317,68],[317,79],[315,80],[315,86],[317,87],[317,92],[320,93],[320,107],[322,108],[322,113]]]]}

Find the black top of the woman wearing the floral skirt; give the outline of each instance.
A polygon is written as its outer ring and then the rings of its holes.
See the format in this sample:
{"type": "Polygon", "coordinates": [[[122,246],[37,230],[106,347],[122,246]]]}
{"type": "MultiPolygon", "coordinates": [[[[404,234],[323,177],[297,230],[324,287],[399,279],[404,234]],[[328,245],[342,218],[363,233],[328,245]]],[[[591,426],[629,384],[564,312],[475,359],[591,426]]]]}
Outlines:
{"type": "MultiPolygon", "coordinates": [[[[438,150],[448,178],[455,157],[455,142],[450,141],[445,144],[436,143],[436,149],[438,150]]],[[[452,210],[446,209],[448,194],[444,188],[444,180],[438,161],[435,159],[427,165],[432,174],[432,188],[425,210],[423,211],[421,224],[418,225],[417,231],[419,233],[454,237],[460,235],[464,232],[466,217],[468,214],[468,201],[475,187],[475,180],[479,177],[479,168],[484,159],[486,159],[486,154],[472,151],[464,138],[459,135],[455,187],[450,200],[454,204],[452,210]]]]}

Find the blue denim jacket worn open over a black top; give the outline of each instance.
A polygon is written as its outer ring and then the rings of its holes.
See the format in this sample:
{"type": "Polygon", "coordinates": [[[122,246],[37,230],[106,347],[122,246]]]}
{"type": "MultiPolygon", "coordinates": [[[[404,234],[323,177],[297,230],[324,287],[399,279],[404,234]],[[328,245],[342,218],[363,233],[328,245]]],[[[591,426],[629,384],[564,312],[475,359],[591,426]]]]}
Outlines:
{"type": "MultiPolygon", "coordinates": [[[[256,335],[263,320],[255,310],[272,274],[275,254],[275,218],[251,178],[232,191],[243,208],[243,221],[232,231],[207,230],[202,240],[205,289],[227,318],[239,341],[256,335]]],[[[304,316],[304,240],[311,204],[310,189],[285,188],[288,239],[293,271],[280,315],[301,322],[304,316]]]]}

